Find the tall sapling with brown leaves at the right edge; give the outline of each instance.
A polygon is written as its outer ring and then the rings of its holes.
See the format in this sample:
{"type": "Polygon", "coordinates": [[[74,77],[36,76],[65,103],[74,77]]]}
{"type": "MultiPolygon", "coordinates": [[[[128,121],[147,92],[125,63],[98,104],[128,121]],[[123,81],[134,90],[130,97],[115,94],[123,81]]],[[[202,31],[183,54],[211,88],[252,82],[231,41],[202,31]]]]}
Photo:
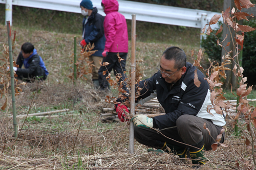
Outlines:
{"type": "MultiPolygon", "coordinates": [[[[245,138],[245,144],[248,149],[251,149],[252,154],[251,157],[253,159],[254,165],[256,165],[255,161],[255,128],[256,128],[256,109],[255,107],[252,107],[249,105],[249,101],[247,100],[247,95],[251,92],[252,86],[247,87],[247,84],[245,83],[247,78],[243,76],[243,67],[241,66],[241,63],[239,62],[238,56],[240,55],[242,49],[243,49],[243,41],[244,41],[244,32],[250,32],[254,31],[255,28],[252,28],[250,26],[243,26],[239,25],[238,21],[242,19],[247,19],[247,16],[252,16],[252,14],[248,14],[246,12],[241,12],[242,8],[250,8],[254,7],[254,4],[252,4],[249,0],[235,0],[234,4],[236,5],[236,8],[232,8],[230,10],[230,7],[227,8],[224,12],[222,11],[222,17],[223,17],[223,23],[228,27],[229,33],[231,36],[231,41],[227,42],[227,45],[223,45],[223,42],[226,41],[228,34],[224,38],[223,41],[217,40],[217,45],[220,45],[227,53],[227,55],[222,57],[222,63],[219,66],[219,63],[212,64],[210,63],[210,68],[207,69],[206,73],[206,80],[209,83],[210,90],[211,90],[211,104],[214,106],[214,109],[217,113],[223,114],[223,112],[226,113],[227,116],[229,116],[233,120],[233,127],[237,125],[242,132],[242,137],[245,138]],[[232,36],[232,33],[234,33],[234,36],[232,36]],[[233,46],[233,51],[227,51],[227,46],[233,46]],[[232,53],[233,52],[233,53],[232,53]],[[233,55],[232,55],[233,54],[233,55]],[[225,70],[230,70],[229,68],[225,67],[227,64],[231,64],[231,61],[234,63],[234,67],[232,69],[232,72],[236,79],[238,80],[238,88],[236,90],[236,94],[232,92],[232,86],[231,86],[231,93],[238,98],[237,103],[237,112],[235,115],[229,115],[228,109],[231,107],[230,103],[224,103],[224,96],[222,91],[222,85],[223,83],[220,81],[220,78],[226,79],[225,70]],[[243,117],[241,117],[243,115],[243,117]],[[238,119],[244,120],[243,124],[238,123],[238,119]]],[[[221,15],[214,15],[210,22],[207,24],[207,33],[206,35],[210,35],[211,32],[214,32],[211,29],[211,25],[218,22],[221,15]]],[[[206,25],[206,26],[207,26],[206,25]]],[[[202,33],[205,32],[206,26],[202,30],[202,33]]],[[[215,33],[216,37],[219,33],[222,32],[222,26],[220,29],[215,33]]],[[[218,38],[218,37],[217,37],[218,38]]],[[[194,65],[198,66],[199,68],[203,69],[200,66],[200,59],[201,59],[201,52],[199,52],[198,59],[194,60],[194,65]]],[[[195,72],[196,75],[196,72],[195,72]]],[[[198,85],[200,84],[197,79],[195,78],[195,83],[198,85]]],[[[211,106],[208,107],[208,112],[210,114],[210,109],[212,109],[211,106]]],[[[216,139],[218,142],[218,138],[216,139]]],[[[212,145],[212,149],[215,150],[216,143],[212,145]]],[[[245,168],[251,168],[252,165],[248,161],[240,161],[245,168]]],[[[239,160],[237,161],[237,167],[239,167],[239,160]]]]}

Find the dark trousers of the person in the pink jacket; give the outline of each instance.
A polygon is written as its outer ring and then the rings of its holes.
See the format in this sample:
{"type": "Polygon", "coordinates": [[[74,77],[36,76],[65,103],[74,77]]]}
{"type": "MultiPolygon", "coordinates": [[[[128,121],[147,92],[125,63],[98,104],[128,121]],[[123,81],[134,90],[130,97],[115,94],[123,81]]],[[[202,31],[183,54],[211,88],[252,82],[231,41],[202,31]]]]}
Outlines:
{"type": "MultiPolygon", "coordinates": [[[[100,66],[98,74],[99,74],[99,84],[100,84],[100,89],[104,90],[107,89],[109,87],[109,82],[106,80],[106,77],[109,75],[108,72],[111,72],[112,69],[114,69],[114,79],[116,74],[121,74],[121,79],[119,79],[119,83],[121,81],[124,81],[124,79],[126,78],[126,75],[123,73],[124,71],[126,71],[125,69],[125,64],[126,64],[126,57],[127,57],[127,53],[119,53],[120,58],[124,59],[122,61],[118,61],[118,57],[117,57],[118,53],[108,53],[108,56],[103,57],[103,62],[108,62],[109,65],[106,66],[100,66]],[[103,75],[103,71],[106,71],[106,74],[103,75]]],[[[125,84],[126,85],[126,84],[125,84]]],[[[125,86],[124,85],[124,86],[125,86]]]]}

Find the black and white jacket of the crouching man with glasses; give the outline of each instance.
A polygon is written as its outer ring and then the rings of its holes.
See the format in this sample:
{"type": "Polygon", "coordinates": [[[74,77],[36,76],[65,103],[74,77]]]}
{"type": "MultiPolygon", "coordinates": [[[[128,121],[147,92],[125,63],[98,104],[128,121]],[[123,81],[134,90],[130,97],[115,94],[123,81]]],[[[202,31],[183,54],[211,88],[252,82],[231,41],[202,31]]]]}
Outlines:
{"type": "Polygon", "coordinates": [[[197,70],[198,79],[201,82],[200,87],[197,87],[194,84],[197,68],[188,62],[186,68],[185,74],[170,90],[170,84],[165,82],[160,72],[139,83],[142,90],[137,102],[141,100],[140,104],[143,104],[157,96],[159,103],[165,110],[165,115],[153,118],[154,128],[174,127],[176,126],[176,120],[183,114],[210,119],[215,125],[224,126],[225,119],[222,115],[216,113],[214,109],[210,110],[213,115],[207,112],[207,105],[211,105],[210,91],[203,73],[197,70]]]}

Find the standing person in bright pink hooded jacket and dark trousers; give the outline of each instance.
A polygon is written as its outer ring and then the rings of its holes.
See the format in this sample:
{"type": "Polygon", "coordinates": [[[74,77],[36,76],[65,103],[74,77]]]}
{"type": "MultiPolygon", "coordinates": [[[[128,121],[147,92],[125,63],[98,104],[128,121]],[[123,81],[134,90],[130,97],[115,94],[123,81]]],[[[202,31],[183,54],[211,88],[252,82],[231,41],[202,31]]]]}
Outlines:
{"type": "Polygon", "coordinates": [[[124,16],[118,12],[119,5],[117,0],[102,0],[101,6],[106,14],[104,19],[106,41],[102,53],[102,62],[110,63],[107,66],[101,66],[98,71],[100,89],[104,90],[109,87],[109,83],[106,81],[108,74],[103,75],[103,71],[108,70],[111,72],[112,69],[114,69],[115,75],[122,75],[119,82],[126,78],[124,71],[128,53],[128,32],[126,20],[124,16]],[[124,59],[120,63],[117,54],[124,59]]]}

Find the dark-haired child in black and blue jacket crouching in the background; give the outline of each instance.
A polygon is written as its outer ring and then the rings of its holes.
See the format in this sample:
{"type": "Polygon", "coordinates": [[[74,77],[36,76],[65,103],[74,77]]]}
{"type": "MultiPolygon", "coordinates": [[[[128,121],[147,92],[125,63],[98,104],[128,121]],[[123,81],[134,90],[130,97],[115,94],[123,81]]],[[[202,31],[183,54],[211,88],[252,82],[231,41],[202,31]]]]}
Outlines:
{"type": "Polygon", "coordinates": [[[40,80],[46,80],[49,72],[46,69],[44,61],[37,54],[34,45],[26,42],[22,45],[22,51],[16,60],[19,67],[13,67],[18,79],[25,79],[28,82],[38,77],[40,80]],[[24,65],[25,68],[22,68],[24,65]]]}

